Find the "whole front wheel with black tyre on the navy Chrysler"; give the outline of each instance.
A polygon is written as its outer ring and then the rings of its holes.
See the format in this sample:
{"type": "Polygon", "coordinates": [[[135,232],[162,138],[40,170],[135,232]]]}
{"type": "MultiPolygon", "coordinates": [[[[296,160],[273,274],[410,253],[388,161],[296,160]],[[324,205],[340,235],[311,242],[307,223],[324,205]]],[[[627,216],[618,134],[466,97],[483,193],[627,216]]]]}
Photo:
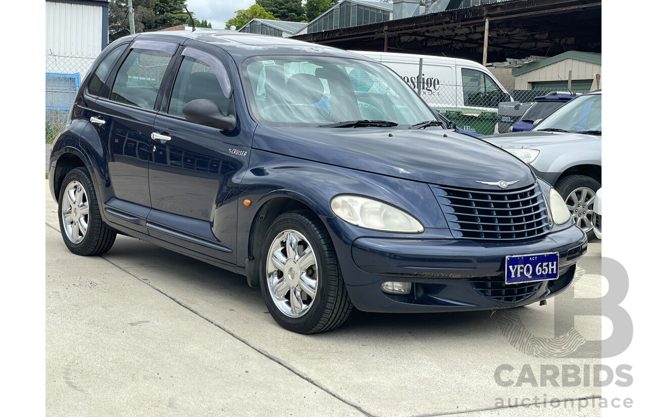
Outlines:
{"type": "Polygon", "coordinates": [[[280,215],[265,236],[261,293],[277,323],[292,332],[327,332],[342,325],[353,305],[333,243],[311,211],[280,215]]]}

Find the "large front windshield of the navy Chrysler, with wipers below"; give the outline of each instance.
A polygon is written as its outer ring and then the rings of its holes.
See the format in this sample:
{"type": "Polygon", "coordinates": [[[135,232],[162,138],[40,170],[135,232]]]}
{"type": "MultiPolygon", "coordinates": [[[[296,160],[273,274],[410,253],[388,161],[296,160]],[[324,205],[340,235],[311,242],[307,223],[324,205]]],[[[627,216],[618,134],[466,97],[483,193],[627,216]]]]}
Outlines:
{"type": "MultiPolygon", "coordinates": [[[[378,63],[259,56],[243,61],[241,75],[248,109],[263,125],[313,127],[369,120],[408,128],[437,120],[399,76],[378,63]]],[[[361,124],[366,125],[371,124],[361,124]]]]}

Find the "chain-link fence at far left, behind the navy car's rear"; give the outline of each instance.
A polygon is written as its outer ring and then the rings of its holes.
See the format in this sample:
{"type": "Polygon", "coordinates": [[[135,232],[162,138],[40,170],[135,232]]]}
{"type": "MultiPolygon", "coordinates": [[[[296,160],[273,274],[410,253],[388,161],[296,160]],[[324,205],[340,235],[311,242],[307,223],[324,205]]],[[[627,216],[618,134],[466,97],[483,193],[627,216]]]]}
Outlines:
{"type": "Polygon", "coordinates": [[[81,80],[95,58],[45,52],[45,144],[65,127],[81,80]]]}

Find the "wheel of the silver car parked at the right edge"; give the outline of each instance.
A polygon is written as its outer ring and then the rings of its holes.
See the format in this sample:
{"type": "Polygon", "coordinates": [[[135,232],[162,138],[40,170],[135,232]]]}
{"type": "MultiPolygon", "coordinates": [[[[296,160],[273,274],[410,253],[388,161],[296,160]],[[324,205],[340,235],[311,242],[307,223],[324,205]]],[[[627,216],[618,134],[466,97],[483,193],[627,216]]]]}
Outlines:
{"type": "Polygon", "coordinates": [[[556,184],[555,189],[568,206],[575,224],[586,233],[588,239],[595,237],[593,232],[593,200],[595,191],[602,187],[599,182],[585,175],[565,176],[556,184]]]}

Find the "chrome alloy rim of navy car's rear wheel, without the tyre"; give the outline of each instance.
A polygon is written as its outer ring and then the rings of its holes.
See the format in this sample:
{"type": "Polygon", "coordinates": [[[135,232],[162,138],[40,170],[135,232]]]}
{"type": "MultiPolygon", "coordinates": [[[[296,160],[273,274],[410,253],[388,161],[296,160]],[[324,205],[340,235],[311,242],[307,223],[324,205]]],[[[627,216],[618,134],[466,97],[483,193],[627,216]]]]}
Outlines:
{"type": "Polygon", "coordinates": [[[61,203],[61,217],[63,217],[63,228],[67,239],[76,244],[83,241],[87,233],[89,206],[87,193],[80,182],[72,181],[65,188],[61,203]]]}

